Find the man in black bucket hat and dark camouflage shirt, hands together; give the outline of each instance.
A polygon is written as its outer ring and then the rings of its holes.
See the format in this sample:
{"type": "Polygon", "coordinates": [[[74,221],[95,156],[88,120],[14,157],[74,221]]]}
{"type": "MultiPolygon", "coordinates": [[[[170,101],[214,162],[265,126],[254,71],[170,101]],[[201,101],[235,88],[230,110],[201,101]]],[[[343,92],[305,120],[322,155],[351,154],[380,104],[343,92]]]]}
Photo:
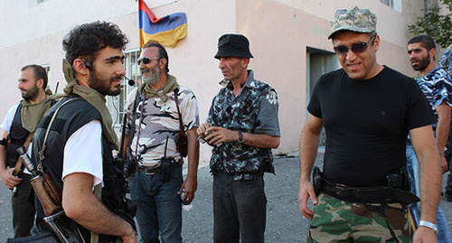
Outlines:
{"type": "Polygon", "coordinates": [[[222,35],[215,58],[224,88],[197,130],[212,145],[213,241],[264,242],[263,174],[274,173],[271,149],[279,145],[277,93],[247,70],[253,56],[244,35],[222,35]]]}

